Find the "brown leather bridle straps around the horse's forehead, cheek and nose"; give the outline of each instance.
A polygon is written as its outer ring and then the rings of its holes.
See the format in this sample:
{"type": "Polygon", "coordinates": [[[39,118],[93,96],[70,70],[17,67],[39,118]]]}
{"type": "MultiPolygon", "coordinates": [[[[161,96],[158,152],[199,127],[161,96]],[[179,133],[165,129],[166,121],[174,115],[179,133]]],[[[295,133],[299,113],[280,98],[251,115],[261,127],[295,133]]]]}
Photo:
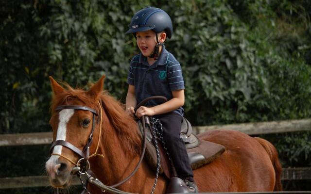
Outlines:
{"type": "MultiPolygon", "coordinates": [[[[99,103],[100,105],[100,103],[99,103]]],[[[101,111],[102,111],[102,107],[100,105],[101,111]]],[[[92,130],[91,133],[89,135],[89,137],[87,138],[87,143],[86,146],[84,146],[83,150],[81,151],[79,148],[77,148],[76,146],[73,146],[72,144],[70,144],[67,141],[64,140],[56,140],[52,143],[52,146],[50,148],[50,154],[51,155],[57,155],[57,156],[61,156],[65,159],[67,159],[69,162],[73,163],[73,164],[77,164],[76,162],[73,162],[72,160],[70,160],[68,157],[63,156],[61,154],[54,154],[52,153],[52,150],[54,148],[54,146],[65,146],[67,148],[69,148],[70,150],[72,150],[74,153],[78,154],[80,157],[84,158],[84,159],[88,159],[89,157],[89,147],[91,146],[91,144],[93,143],[93,133],[94,133],[94,129],[95,129],[95,117],[98,116],[98,113],[96,113],[95,109],[91,109],[89,107],[86,106],[80,106],[80,105],[62,105],[62,106],[57,106],[56,107],[56,111],[61,111],[64,109],[74,109],[74,110],[83,110],[83,111],[90,111],[91,113],[93,113],[93,124],[92,124],[92,130]]],[[[102,115],[101,115],[101,122],[102,123],[102,115]]],[[[101,135],[101,134],[100,134],[101,135]]],[[[98,140],[98,143],[100,142],[100,139],[98,140]]],[[[97,149],[96,149],[97,151],[97,149]]],[[[96,152],[95,152],[96,154],[96,152]]]]}

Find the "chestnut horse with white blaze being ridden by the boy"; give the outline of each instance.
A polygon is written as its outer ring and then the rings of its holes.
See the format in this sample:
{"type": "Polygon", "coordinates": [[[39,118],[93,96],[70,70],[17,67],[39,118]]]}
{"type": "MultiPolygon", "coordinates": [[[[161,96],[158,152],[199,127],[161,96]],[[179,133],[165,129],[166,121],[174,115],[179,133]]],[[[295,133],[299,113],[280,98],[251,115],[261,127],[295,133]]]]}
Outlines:
{"type": "MultiPolygon", "coordinates": [[[[138,163],[141,138],[137,123],[124,111],[124,106],[104,92],[104,76],[88,91],[73,89],[68,84],[64,89],[52,77],[50,80],[53,91],[50,120],[53,141],[64,140],[83,150],[95,125],[94,143],[89,147],[90,155],[96,153],[89,159],[91,170],[105,185],[113,185],[126,178],[138,163]],[[60,105],[84,106],[97,114],[81,109],[59,110],[57,107],[60,105]],[[93,117],[95,122],[92,123],[93,117]]],[[[200,192],[282,190],[276,148],[268,141],[233,130],[209,131],[199,134],[199,137],[226,148],[219,158],[194,170],[200,192]]],[[[54,188],[67,188],[72,182],[72,169],[81,157],[62,145],[54,146],[51,155],[46,162],[50,183],[54,188]]],[[[134,176],[117,188],[147,194],[154,181],[155,171],[143,161],[134,176]]],[[[159,176],[155,194],[165,193],[167,185],[168,179],[159,176]]],[[[92,194],[102,193],[92,184],[88,184],[87,189],[92,194]]]]}

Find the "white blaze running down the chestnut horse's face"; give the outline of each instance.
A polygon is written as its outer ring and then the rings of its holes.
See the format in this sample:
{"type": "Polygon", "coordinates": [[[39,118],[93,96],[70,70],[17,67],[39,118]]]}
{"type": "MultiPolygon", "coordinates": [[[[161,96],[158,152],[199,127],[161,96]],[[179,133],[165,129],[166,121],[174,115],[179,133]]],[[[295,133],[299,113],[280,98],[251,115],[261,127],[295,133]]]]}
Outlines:
{"type": "MultiPolygon", "coordinates": [[[[73,115],[73,109],[64,109],[59,112],[59,123],[58,129],[56,134],[56,140],[64,140],[66,141],[66,131],[67,131],[67,123],[69,122],[71,116],[73,115]]],[[[63,146],[55,146],[53,148],[53,154],[62,154],[62,147],[63,146]]],[[[55,164],[59,156],[52,155],[46,165],[55,164]]]]}

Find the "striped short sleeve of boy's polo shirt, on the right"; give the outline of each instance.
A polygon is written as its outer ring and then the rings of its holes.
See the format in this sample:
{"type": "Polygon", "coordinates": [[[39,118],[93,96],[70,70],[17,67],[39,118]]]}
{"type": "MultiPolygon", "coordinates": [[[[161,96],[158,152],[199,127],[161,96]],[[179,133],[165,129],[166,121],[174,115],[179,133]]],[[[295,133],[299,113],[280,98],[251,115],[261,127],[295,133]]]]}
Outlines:
{"type": "Polygon", "coordinates": [[[181,66],[178,61],[167,65],[167,79],[172,91],[185,89],[181,66]]]}

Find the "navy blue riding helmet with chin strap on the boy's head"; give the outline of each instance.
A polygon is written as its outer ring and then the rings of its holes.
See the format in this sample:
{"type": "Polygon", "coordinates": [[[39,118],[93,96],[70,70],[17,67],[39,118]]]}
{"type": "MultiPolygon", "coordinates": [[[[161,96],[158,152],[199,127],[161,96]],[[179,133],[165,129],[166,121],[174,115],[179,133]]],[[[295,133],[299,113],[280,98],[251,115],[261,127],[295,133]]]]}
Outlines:
{"type": "Polygon", "coordinates": [[[158,48],[159,43],[157,33],[165,31],[168,38],[172,37],[173,34],[173,24],[171,17],[163,10],[155,7],[145,7],[139,10],[131,20],[129,25],[129,30],[125,32],[126,34],[133,33],[136,38],[136,32],[145,32],[152,30],[155,32],[156,46],[155,51],[149,57],[158,58],[158,48]]]}

